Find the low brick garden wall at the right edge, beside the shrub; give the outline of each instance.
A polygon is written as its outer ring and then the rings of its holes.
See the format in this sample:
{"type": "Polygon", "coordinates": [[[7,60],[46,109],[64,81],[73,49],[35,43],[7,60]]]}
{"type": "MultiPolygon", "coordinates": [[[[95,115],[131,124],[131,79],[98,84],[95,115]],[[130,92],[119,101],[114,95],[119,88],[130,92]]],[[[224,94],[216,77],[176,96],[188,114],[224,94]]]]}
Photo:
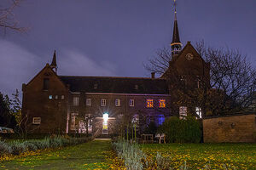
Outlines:
{"type": "Polygon", "coordinates": [[[205,143],[256,142],[255,114],[204,119],[203,134],[205,143]]]}

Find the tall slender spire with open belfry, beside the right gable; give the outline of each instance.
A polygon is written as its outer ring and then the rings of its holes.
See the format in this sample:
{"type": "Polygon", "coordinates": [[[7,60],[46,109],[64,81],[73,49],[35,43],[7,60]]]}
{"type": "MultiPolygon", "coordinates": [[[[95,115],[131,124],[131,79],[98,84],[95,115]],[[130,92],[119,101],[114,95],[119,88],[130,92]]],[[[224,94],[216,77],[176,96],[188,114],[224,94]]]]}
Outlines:
{"type": "Polygon", "coordinates": [[[172,43],[171,43],[171,48],[172,48],[172,59],[174,59],[177,54],[182,49],[182,43],[179,40],[179,34],[178,34],[178,27],[177,27],[177,10],[176,10],[176,0],[174,0],[174,26],[173,26],[173,35],[172,35],[172,43]]]}

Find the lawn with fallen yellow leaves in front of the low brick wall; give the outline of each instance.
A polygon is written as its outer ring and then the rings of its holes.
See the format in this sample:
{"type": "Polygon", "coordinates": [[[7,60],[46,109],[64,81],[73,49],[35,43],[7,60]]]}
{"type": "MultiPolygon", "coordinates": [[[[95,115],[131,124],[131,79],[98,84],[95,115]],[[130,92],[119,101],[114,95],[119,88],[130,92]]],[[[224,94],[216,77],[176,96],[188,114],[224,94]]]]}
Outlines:
{"type": "Polygon", "coordinates": [[[256,144],[141,144],[153,159],[157,152],[177,169],[186,161],[192,169],[256,169],[256,144]]]}

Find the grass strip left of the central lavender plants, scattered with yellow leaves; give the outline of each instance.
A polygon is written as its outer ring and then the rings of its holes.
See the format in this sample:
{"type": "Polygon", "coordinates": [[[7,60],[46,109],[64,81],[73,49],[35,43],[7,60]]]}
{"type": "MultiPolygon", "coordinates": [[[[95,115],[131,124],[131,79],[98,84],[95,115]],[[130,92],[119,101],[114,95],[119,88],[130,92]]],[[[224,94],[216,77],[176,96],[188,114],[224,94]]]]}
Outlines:
{"type": "Polygon", "coordinates": [[[110,141],[91,141],[60,150],[44,150],[36,156],[0,161],[0,169],[108,169],[110,141]]]}

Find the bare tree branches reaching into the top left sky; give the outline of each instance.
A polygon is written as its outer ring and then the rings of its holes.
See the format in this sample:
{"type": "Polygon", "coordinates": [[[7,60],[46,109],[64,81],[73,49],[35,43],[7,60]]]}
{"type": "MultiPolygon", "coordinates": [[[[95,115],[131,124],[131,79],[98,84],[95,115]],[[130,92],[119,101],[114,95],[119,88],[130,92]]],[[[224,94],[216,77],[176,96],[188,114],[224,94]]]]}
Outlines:
{"type": "Polygon", "coordinates": [[[0,3],[0,27],[6,32],[7,29],[13,31],[26,31],[25,27],[19,26],[15,19],[14,10],[19,6],[21,0],[2,0],[0,3]]]}

